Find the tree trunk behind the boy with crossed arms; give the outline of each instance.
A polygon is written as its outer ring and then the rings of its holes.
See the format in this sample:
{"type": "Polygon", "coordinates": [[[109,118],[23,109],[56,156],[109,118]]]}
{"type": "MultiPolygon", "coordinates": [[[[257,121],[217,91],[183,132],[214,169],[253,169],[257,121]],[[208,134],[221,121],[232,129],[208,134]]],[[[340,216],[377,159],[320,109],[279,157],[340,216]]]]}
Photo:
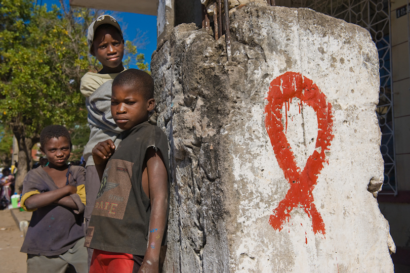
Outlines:
{"type": "Polygon", "coordinates": [[[31,148],[38,142],[38,137],[26,137],[23,125],[13,126],[13,133],[19,147],[15,191],[20,193],[23,190],[24,177],[33,165],[31,162],[31,148]]]}

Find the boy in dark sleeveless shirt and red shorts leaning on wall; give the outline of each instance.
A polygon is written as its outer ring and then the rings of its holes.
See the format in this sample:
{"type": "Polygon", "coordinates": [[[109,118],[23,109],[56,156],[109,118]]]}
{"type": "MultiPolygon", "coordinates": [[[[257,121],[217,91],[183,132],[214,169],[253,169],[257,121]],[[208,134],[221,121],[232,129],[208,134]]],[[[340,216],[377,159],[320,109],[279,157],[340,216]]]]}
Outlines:
{"type": "Polygon", "coordinates": [[[151,76],[137,69],[112,82],[111,113],[125,131],[118,147],[107,139],[93,149],[102,183],[86,236],[86,246],[94,249],[90,273],[160,270],[170,169],[168,138],[148,122],[153,86],[151,76]]]}

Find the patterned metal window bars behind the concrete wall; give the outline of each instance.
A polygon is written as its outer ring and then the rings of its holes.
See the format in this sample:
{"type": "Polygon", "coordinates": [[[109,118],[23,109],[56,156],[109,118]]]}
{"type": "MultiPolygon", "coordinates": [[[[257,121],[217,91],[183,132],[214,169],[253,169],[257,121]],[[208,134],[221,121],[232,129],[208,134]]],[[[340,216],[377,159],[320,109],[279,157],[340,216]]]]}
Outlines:
{"type": "Polygon", "coordinates": [[[376,113],[382,131],[384,184],[380,194],[397,195],[394,144],[391,20],[388,0],[292,0],[294,8],[310,8],[367,29],[379,52],[380,93],[376,113]]]}

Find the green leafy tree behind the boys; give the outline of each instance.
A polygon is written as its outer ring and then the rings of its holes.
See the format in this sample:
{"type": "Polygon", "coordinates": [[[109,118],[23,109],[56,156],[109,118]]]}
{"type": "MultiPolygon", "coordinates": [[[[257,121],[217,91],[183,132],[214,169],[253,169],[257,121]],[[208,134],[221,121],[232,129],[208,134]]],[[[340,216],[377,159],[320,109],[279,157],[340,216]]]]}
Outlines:
{"type": "Polygon", "coordinates": [[[31,148],[42,128],[86,124],[79,84],[87,71],[96,72],[86,33],[98,15],[62,1],[49,11],[33,0],[0,2],[0,119],[18,142],[16,187],[31,168],[31,148]]]}

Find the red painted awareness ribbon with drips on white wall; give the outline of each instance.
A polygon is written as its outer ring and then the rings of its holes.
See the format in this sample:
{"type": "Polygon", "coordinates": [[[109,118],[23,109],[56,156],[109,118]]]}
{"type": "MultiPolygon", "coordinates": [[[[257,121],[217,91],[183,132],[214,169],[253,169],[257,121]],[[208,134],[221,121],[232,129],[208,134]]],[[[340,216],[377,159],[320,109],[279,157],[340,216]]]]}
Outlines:
{"type": "MultiPolygon", "coordinates": [[[[270,83],[267,100],[265,127],[279,167],[291,186],[286,196],[273,210],[273,214],[270,215],[269,224],[275,230],[280,231],[283,228],[283,222],[289,221],[291,211],[301,205],[312,219],[313,232],[324,235],[323,219],[313,203],[312,191],[325,162],[325,151],[329,150],[334,137],[332,134],[332,105],[326,103],[326,96],[321,93],[316,84],[313,84],[312,80],[296,72],[286,72],[275,78],[270,83]],[[302,172],[296,165],[295,156],[286,139],[280,112],[284,105],[287,114],[293,98],[299,98],[301,104],[312,107],[317,115],[318,131],[315,150],[309,156],[302,172]]],[[[286,129],[287,120],[286,116],[286,129]]]]}

